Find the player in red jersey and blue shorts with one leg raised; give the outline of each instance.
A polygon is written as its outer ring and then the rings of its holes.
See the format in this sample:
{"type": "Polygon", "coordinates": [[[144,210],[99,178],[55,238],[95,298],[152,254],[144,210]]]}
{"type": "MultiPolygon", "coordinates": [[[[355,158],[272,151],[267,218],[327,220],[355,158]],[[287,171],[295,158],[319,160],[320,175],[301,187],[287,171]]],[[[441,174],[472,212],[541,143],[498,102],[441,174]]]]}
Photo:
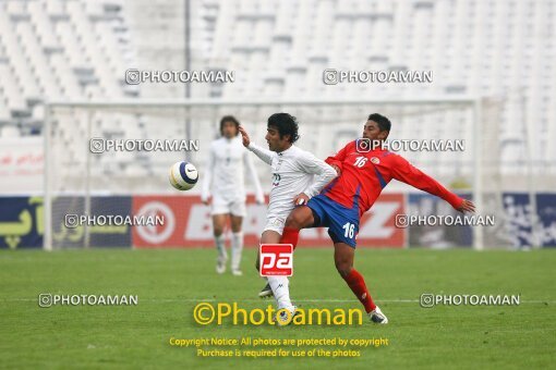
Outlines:
{"type": "Polygon", "coordinates": [[[351,141],[326,159],[338,177],[319,195],[306,197],[305,206],[291,211],[280,239],[295,247],[301,229],[329,227],[336,269],[375,323],[387,323],[388,319],[374,304],[363,276],[353,268],[353,259],[361,215],[373,206],[386,185],[398,180],[443,198],[458,211],[474,212],[475,209],[473,202],[449,192],[402,157],[385,150],[382,145],[368,146],[368,143],[383,143],[390,127],[387,118],[371,114],[363,128],[363,138],[367,140],[351,141]]]}

